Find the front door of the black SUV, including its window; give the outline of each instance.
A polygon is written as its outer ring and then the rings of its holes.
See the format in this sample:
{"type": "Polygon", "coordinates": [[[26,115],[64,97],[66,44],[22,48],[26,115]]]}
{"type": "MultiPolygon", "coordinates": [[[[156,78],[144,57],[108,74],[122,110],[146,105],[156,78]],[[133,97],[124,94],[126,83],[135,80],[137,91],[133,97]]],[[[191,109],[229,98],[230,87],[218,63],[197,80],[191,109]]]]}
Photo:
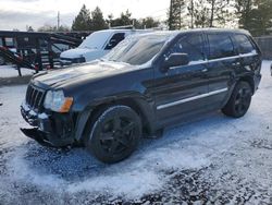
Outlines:
{"type": "Polygon", "coordinates": [[[153,92],[161,122],[206,107],[203,96],[208,92],[208,80],[202,33],[181,36],[163,53],[163,60],[171,53],[187,53],[189,64],[170,68],[166,72],[161,72],[160,68],[154,71],[153,92]]]}

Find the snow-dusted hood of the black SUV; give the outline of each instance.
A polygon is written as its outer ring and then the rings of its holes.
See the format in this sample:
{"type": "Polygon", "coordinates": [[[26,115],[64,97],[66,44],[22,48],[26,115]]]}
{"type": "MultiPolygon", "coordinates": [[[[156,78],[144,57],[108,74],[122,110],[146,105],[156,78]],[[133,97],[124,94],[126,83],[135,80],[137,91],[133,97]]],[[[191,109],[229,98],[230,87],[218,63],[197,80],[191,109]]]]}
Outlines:
{"type": "Polygon", "coordinates": [[[52,88],[65,87],[81,82],[98,81],[100,79],[128,72],[135,67],[126,63],[92,61],[66,69],[48,71],[34,76],[33,83],[37,86],[52,88]]]}

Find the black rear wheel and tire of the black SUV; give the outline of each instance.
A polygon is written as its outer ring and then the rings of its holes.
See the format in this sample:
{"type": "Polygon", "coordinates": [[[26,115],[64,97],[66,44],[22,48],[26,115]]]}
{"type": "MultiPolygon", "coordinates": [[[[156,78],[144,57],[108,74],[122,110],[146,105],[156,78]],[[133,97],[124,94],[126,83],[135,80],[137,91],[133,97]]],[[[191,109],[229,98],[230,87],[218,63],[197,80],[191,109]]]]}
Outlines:
{"type": "Polygon", "coordinates": [[[222,112],[233,118],[240,118],[246,114],[251,102],[252,91],[247,82],[239,82],[228,99],[222,112]]]}

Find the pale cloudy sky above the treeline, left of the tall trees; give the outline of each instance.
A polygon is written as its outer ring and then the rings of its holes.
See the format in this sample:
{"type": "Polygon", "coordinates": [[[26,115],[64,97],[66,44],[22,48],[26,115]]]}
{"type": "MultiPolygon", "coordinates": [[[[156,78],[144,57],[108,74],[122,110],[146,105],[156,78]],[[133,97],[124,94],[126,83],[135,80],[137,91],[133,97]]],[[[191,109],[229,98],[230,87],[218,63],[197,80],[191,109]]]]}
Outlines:
{"type": "Polygon", "coordinates": [[[165,20],[170,0],[0,0],[0,31],[57,25],[58,11],[61,25],[71,26],[84,3],[90,11],[98,5],[104,17],[118,17],[128,9],[135,19],[165,20]]]}

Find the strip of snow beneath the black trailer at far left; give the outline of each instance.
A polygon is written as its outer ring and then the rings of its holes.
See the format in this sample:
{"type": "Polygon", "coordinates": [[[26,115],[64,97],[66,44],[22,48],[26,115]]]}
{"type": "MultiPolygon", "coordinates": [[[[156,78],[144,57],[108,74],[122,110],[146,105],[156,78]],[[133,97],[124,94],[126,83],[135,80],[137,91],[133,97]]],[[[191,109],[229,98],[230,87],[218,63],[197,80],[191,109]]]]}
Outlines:
{"type": "MultiPolygon", "coordinates": [[[[35,72],[30,69],[21,69],[22,75],[33,75],[35,72]]],[[[18,76],[16,67],[14,65],[1,65],[0,77],[15,77],[18,76]]]]}

